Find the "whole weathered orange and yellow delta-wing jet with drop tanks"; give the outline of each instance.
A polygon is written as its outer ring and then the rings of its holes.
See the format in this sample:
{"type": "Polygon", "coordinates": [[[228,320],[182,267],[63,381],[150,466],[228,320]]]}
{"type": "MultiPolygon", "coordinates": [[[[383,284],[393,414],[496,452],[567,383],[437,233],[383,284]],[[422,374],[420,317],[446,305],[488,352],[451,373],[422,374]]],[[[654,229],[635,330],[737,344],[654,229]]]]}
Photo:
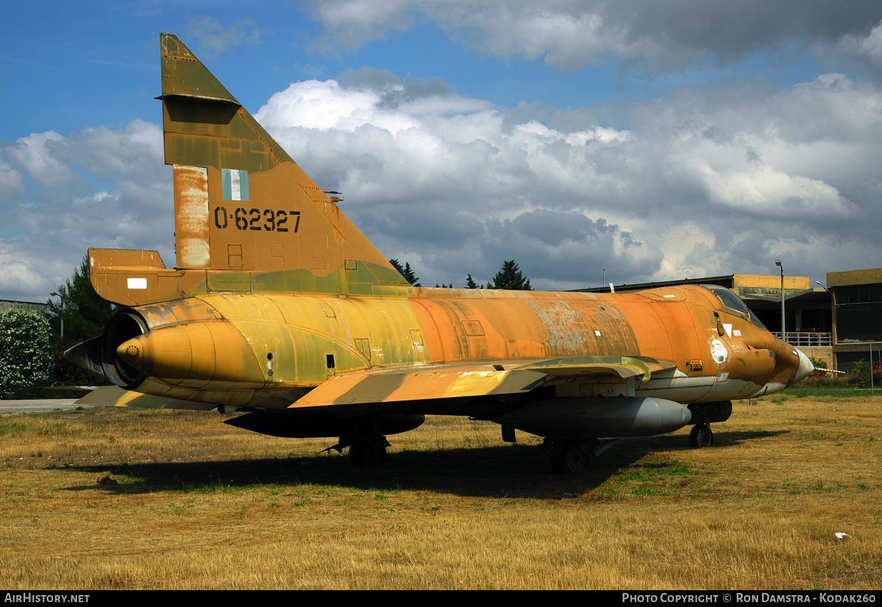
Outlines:
{"type": "Polygon", "coordinates": [[[731,400],[812,370],[720,287],[411,287],[176,36],[161,59],[176,267],[89,251],[93,288],[130,307],[66,353],[124,390],[86,400],[248,411],[228,423],[340,437],[356,464],[426,414],[473,416],[545,437],[566,471],[597,438],[694,423],[709,445],[731,400]]]}

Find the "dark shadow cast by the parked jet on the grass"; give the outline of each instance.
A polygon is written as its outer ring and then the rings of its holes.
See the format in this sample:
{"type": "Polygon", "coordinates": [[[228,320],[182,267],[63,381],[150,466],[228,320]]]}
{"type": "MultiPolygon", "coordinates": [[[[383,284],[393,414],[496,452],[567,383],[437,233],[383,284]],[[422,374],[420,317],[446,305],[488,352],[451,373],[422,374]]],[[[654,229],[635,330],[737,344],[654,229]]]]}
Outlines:
{"type": "MultiPolygon", "coordinates": [[[[716,445],[732,448],[787,432],[721,432],[716,445]]],[[[346,465],[336,453],[228,461],[89,464],[67,469],[93,473],[96,483],[71,486],[68,491],[99,489],[123,495],[154,491],[207,493],[265,485],[281,488],[278,501],[286,498],[286,488],[310,484],[363,491],[439,491],[463,497],[560,499],[594,490],[635,465],[662,472],[682,467],[692,453],[688,438],[683,435],[632,438],[626,446],[610,448],[584,472],[561,476],[553,474],[547,462],[535,457],[540,449],[538,445],[516,444],[483,446],[480,450],[405,450],[391,454],[392,465],[364,468],[346,465]],[[644,460],[643,464],[638,463],[644,460]],[[123,483],[97,483],[103,476],[123,483]]]]}

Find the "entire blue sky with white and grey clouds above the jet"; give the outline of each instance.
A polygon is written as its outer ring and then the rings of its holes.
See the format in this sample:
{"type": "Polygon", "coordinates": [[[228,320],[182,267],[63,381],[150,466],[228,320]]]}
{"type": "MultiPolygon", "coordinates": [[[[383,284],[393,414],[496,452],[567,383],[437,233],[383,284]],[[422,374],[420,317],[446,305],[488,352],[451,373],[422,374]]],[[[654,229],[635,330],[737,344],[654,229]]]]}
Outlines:
{"type": "Polygon", "coordinates": [[[878,0],[49,0],[0,22],[0,299],[174,265],[160,32],[423,286],[882,266],[878,0]]]}

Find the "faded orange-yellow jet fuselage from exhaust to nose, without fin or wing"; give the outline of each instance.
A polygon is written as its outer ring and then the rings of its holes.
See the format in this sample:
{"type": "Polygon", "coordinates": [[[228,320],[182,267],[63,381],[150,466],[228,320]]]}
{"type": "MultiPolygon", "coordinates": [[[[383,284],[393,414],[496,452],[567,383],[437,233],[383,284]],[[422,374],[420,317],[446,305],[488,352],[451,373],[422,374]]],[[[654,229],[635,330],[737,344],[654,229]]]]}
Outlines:
{"type": "MultiPolygon", "coordinates": [[[[402,290],[408,295],[215,294],[151,304],[126,312],[106,339],[116,346],[116,363],[137,371],[119,376],[123,387],[247,408],[288,408],[328,379],[404,366],[430,372],[436,365],[512,368],[573,356],[644,356],[676,370],[638,382],[632,395],[684,403],[774,392],[800,367],[796,348],[702,287],[630,294],[402,290]],[[119,328],[136,317],[143,333],[119,328]]],[[[605,390],[579,381],[555,385],[561,397],[605,390]]]]}

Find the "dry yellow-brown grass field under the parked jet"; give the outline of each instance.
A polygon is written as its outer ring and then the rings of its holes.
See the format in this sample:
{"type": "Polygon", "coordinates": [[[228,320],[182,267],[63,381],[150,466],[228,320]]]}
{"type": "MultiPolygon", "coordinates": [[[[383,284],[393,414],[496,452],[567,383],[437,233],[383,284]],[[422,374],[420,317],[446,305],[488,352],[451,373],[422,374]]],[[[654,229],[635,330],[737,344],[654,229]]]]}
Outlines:
{"type": "Polygon", "coordinates": [[[882,397],[738,401],[716,446],[623,439],[557,476],[536,438],[430,418],[384,468],[216,413],[0,418],[10,589],[882,588],[882,397]],[[99,483],[110,476],[116,483],[99,483]],[[850,539],[834,534],[845,532],[850,539]]]}

